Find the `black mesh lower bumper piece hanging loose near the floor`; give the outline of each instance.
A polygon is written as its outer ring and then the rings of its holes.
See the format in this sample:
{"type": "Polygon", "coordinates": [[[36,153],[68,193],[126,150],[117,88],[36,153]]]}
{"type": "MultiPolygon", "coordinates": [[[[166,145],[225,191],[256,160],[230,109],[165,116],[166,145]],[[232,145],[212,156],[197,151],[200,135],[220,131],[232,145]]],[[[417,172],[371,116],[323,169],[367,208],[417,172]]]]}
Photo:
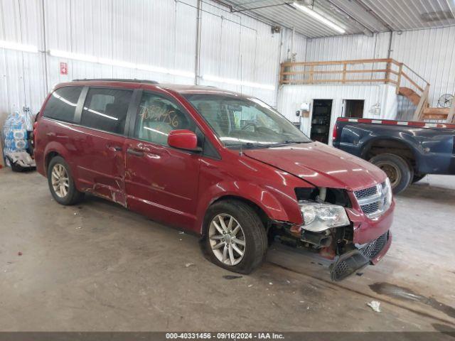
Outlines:
{"type": "Polygon", "coordinates": [[[389,232],[387,231],[362,249],[355,249],[342,254],[331,265],[331,280],[341,281],[355,271],[363,268],[363,266],[370,264],[371,259],[374,259],[385,247],[388,239],[389,232]]]}

